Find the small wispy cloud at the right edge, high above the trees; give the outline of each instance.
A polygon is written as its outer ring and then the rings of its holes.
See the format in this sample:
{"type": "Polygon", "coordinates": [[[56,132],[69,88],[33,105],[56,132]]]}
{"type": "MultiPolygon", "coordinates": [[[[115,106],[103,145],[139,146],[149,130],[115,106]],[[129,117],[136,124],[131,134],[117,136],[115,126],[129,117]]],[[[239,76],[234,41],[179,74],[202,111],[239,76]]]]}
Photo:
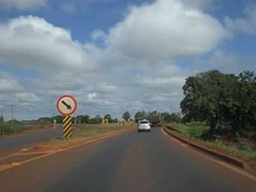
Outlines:
{"type": "Polygon", "coordinates": [[[224,21],[227,29],[247,35],[256,35],[256,4],[246,8],[244,13],[244,18],[231,19],[226,16],[224,21]]]}

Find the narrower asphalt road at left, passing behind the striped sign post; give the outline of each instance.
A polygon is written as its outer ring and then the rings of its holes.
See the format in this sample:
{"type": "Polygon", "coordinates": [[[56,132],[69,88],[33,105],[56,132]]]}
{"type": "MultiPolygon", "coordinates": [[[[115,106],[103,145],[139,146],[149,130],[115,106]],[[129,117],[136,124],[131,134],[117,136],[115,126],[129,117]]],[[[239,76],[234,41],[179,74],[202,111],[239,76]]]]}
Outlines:
{"type": "Polygon", "coordinates": [[[0,157],[12,154],[13,152],[18,152],[22,148],[31,147],[32,145],[41,143],[44,140],[61,136],[61,132],[62,129],[59,125],[56,129],[52,130],[14,136],[13,138],[1,138],[0,157]]]}

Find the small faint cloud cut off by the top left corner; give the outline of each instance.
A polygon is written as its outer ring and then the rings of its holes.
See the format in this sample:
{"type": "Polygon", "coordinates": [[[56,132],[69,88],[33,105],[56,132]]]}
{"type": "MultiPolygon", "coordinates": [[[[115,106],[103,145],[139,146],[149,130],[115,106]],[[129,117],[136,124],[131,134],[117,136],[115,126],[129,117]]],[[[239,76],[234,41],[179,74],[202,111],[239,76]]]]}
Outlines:
{"type": "Polygon", "coordinates": [[[0,9],[35,10],[46,3],[47,0],[0,0],[0,9]]]}

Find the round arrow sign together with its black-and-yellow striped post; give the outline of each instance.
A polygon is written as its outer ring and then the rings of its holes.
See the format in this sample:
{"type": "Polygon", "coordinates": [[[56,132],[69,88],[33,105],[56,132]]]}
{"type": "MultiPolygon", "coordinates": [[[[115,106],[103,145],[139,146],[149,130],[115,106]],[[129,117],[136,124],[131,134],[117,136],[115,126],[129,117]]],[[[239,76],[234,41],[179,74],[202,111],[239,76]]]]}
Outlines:
{"type": "Polygon", "coordinates": [[[77,108],[77,102],[71,95],[63,95],[57,101],[57,109],[63,115],[63,136],[72,137],[72,115],[77,108]]]}

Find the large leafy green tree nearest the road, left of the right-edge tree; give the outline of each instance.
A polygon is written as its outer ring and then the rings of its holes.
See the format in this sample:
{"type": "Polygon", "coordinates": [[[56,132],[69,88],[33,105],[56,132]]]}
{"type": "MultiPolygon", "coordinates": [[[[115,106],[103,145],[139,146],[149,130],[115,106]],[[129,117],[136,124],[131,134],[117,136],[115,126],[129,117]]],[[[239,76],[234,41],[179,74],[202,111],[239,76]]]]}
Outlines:
{"type": "Polygon", "coordinates": [[[180,103],[182,113],[195,120],[207,121],[212,133],[220,118],[220,95],[223,91],[224,75],[212,70],[188,77],[183,86],[185,98],[180,103]]]}

